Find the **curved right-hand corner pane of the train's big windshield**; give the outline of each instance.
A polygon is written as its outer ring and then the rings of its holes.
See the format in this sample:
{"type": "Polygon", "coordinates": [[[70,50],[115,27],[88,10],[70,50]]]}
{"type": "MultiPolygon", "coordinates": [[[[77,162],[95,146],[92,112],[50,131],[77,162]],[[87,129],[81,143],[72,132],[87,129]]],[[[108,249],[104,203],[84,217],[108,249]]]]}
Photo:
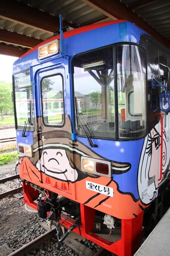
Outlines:
{"type": "Polygon", "coordinates": [[[146,133],[146,61],[142,48],[117,46],[119,138],[146,133]]]}

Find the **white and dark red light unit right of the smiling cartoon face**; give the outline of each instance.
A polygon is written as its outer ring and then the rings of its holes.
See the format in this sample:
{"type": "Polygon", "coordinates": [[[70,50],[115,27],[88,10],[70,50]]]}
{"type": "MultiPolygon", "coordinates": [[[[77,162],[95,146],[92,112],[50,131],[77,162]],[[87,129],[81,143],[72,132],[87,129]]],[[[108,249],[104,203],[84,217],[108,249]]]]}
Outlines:
{"type": "Polygon", "coordinates": [[[83,172],[91,172],[98,176],[111,177],[111,161],[81,157],[81,168],[83,172]]]}

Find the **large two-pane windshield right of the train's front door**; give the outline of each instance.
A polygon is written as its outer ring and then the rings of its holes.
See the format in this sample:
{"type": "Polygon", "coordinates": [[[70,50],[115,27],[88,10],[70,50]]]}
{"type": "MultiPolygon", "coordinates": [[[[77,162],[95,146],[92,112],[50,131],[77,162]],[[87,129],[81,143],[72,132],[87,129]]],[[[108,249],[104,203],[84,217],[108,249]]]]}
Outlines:
{"type": "Polygon", "coordinates": [[[76,132],[99,138],[137,138],[146,132],[145,52],[110,46],[74,58],[76,132]],[[78,108],[77,99],[81,100],[78,108]]]}

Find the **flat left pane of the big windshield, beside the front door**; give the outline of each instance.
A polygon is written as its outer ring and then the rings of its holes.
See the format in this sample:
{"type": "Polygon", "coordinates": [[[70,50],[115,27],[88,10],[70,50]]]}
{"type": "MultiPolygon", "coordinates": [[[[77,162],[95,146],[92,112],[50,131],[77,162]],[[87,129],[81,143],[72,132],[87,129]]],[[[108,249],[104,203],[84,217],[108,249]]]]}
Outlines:
{"type": "Polygon", "coordinates": [[[73,64],[77,134],[115,138],[113,47],[77,55],[73,64]]]}

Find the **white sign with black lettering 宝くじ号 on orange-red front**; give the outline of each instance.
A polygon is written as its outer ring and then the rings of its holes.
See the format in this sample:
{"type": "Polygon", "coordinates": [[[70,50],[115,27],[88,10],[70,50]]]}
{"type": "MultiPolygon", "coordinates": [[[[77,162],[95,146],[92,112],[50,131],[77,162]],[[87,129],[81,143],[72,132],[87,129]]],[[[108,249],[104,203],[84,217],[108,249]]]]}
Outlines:
{"type": "Polygon", "coordinates": [[[94,182],[90,182],[88,180],[86,180],[86,188],[98,192],[100,194],[113,197],[113,188],[100,185],[94,182]]]}

